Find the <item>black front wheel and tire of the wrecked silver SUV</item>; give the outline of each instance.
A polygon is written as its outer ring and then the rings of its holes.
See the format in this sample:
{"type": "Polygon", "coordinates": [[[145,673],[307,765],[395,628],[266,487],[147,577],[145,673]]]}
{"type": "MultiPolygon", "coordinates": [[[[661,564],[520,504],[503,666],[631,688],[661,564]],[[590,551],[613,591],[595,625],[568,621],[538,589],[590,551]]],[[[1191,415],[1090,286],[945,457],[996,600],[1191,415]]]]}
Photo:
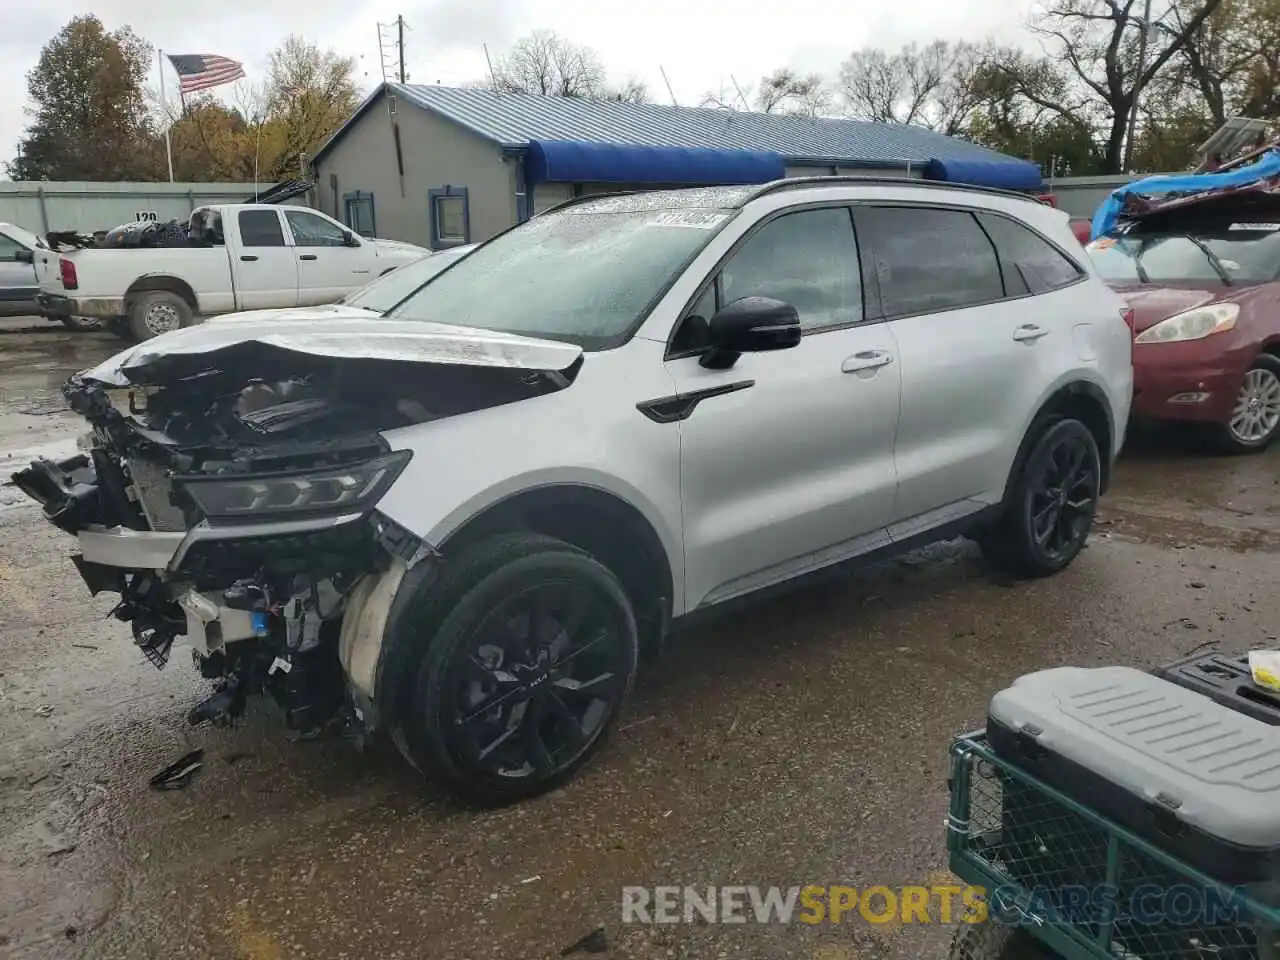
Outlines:
{"type": "Polygon", "coordinates": [[[573,777],[635,678],[635,616],[617,577],[548,536],[495,536],[447,559],[393,628],[420,650],[394,739],[471,803],[573,777]]]}

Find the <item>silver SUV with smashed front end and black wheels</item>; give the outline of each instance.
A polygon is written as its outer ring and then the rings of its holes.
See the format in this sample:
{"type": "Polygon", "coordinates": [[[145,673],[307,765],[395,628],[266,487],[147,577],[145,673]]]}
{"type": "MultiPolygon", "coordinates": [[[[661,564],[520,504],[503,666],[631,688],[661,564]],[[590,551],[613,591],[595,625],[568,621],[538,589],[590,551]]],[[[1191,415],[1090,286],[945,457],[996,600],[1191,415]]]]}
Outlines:
{"type": "Polygon", "coordinates": [[[192,721],[266,689],[513,800],[599,748],[673,620],[957,534],[1062,570],[1124,438],[1126,319],[1012,193],[590,198],[381,316],[128,349],[67,387],[88,452],[17,483],[154,662],[189,639],[192,721]]]}

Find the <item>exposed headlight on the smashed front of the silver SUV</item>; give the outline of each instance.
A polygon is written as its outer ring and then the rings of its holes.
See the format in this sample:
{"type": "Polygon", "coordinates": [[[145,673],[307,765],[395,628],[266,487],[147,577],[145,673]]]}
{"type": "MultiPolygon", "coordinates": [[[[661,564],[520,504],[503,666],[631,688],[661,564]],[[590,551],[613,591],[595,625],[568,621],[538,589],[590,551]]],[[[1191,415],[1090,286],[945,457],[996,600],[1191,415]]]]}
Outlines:
{"type": "Polygon", "coordinates": [[[179,483],[210,520],[255,522],[360,512],[387,493],[411,456],[398,451],[340,467],[179,483]]]}

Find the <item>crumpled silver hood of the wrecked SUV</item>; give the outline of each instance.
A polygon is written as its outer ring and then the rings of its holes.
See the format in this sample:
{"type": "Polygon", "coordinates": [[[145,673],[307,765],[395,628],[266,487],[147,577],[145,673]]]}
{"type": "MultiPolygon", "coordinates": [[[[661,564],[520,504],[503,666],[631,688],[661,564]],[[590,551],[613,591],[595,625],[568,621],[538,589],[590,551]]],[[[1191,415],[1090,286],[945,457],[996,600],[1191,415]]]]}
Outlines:
{"type": "MultiPolygon", "coordinates": [[[[146,379],[145,367],[165,357],[195,357],[242,344],[329,358],[392,360],[411,364],[508,367],[564,371],[582,356],[570,343],[479,330],[470,326],[416,320],[369,319],[367,310],[306,316],[294,311],[261,310],[234,320],[198,324],[145,340],[96,367],[83,371],[84,380],[125,387],[146,379]]],[[[376,315],[374,315],[376,316],[376,315]]]]}

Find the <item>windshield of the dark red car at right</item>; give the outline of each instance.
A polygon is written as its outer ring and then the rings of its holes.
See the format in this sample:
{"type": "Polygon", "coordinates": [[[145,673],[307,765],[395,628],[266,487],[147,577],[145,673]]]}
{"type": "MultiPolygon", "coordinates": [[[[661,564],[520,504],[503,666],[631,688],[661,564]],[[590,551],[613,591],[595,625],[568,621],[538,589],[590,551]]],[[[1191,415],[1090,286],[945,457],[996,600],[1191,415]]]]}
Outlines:
{"type": "Polygon", "coordinates": [[[1100,237],[1089,259],[1111,283],[1268,283],[1280,271],[1280,224],[1217,224],[1100,237]]]}

